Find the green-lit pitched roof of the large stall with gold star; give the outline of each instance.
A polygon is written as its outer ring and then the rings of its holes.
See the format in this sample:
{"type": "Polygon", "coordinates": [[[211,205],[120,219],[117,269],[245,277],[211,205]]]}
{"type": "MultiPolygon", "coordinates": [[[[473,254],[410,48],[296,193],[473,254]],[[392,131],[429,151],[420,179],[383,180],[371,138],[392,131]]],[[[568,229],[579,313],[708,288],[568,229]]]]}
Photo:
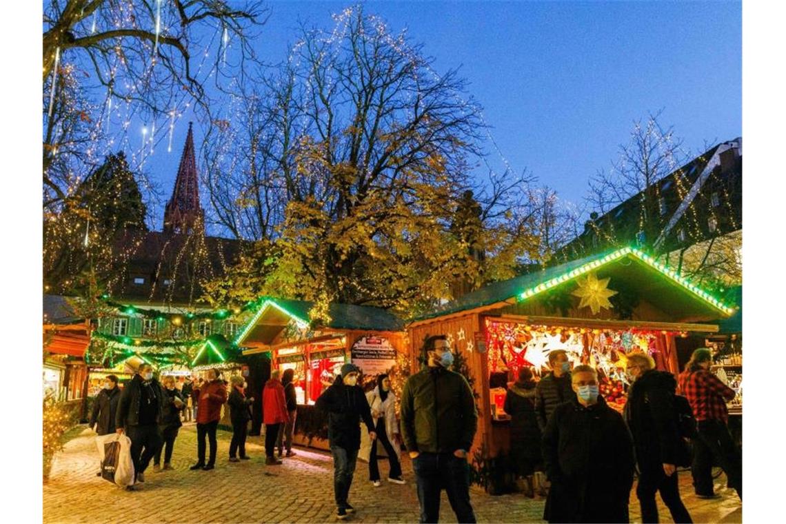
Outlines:
{"type": "Polygon", "coordinates": [[[599,277],[613,277],[613,280],[622,281],[627,287],[645,293],[648,301],[661,310],[674,311],[678,308],[683,320],[714,321],[734,312],[728,303],[698,288],[685,277],[680,277],[673,269],[663,266],[643,251],[622,247],[488,284],[431,313],[414,318],[412,323],[468,310],[504,307],[516,300],[530,299],[589,272],[597,273],[599,277]]]}

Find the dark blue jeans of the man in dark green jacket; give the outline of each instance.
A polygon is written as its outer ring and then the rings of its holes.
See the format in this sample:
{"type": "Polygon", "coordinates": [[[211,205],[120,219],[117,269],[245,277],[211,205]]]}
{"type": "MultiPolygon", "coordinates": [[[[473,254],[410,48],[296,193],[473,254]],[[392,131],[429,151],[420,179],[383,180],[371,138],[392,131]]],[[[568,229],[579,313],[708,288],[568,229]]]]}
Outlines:
{"type": "Polygon", "coordinates": [[[439,494],[447,493],[458,522],[477,522],[469,502],[469,464],[453,453],[421,453],[412,461],[421,522],[439,522],[439,494]]]}

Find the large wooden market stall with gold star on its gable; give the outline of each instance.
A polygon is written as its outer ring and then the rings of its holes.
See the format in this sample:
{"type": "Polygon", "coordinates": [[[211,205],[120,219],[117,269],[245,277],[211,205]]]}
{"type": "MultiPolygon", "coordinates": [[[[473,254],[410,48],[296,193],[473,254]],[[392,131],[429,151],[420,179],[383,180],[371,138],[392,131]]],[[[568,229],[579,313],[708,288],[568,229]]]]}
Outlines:
{"type": "Polygon", "coordinates": [[[717,332],[710,322],[730,313],[731,306],[625,247],[489,284],[410,322],[407,331],[413,361],[429,335],[446,335],[465,357],[479,408],[470,455],[489,461],[509,451],[502,405],[518,368],[546,372],[549,352],[566,350],[574,365],[601,371],[604,397],[622,409],[626,354],[645,350],[658,368],[676,374],[675,338],[717,332]]]}

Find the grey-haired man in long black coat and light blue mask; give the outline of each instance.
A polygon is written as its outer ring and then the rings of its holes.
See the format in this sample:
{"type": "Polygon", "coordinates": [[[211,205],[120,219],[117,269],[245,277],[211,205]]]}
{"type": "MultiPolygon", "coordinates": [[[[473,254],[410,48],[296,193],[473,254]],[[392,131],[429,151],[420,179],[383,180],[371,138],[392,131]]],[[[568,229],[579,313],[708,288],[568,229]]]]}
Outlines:
{"type": "Polygon", "coordinates": [[[625,421],[598,394],[593,368],[576,366],[571,383],[573,398],[556,407],[543,433],[551,481],[543,519],[629,522],[635,465],[625,421]]]}

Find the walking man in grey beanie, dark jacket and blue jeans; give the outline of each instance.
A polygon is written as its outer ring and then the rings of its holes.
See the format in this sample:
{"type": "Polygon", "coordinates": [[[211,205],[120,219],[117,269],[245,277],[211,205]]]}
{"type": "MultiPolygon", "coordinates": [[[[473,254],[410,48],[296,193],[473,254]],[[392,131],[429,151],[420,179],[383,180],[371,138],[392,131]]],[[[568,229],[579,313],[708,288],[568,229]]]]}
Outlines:
{"type": "Polygon", "coordinates": [[[360,449],[360,420],[365,423],[371,440],[376,438],[371,409],[363,388],[358,386],[360,368],[354,364],[341,366],[341,374],[317,399],[317,409],[328,412],[328,439],[333,456],[333,493],[336,516],[343,520],[354,508],[347,502],[352,486],[354,467],[360,449]]]}

